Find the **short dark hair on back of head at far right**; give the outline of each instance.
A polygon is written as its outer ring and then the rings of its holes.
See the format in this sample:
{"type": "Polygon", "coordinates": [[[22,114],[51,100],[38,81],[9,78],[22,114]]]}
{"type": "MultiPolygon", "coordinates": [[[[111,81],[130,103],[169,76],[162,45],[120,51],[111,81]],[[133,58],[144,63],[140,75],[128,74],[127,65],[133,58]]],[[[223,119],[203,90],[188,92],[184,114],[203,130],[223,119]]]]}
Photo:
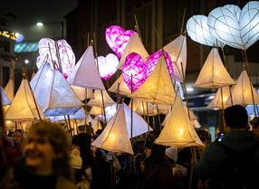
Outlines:
{"type": "Polygon", "coordinates": [[[248,114],[241,105],[228,107],[224,112],[225,124],[229,128],[246,128],[248,125],[248,114]]]}

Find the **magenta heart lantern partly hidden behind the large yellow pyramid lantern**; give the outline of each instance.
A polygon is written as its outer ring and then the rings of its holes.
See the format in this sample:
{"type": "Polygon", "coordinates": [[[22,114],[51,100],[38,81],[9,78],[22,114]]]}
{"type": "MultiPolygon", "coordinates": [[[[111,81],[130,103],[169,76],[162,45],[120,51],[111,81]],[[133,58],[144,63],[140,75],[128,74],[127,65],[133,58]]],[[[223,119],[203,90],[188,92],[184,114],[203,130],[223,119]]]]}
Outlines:
{"type": "MultiPolygon", "coordinates": [[[[158,52],[152,53],[147,62],[143,61],[141,56],[132,52],[126,57],[126,61],[121,69],[123,73],[123,80],[132,91],[138,90],[139,87],[147,80],[152,71],[154,71],[159,58],[163,55],[163,52],[159,50],[158,52]],[[132,83],[131,83],[132,75],[132,83]]],[[[168,64],[168,71],[170,75],[173,75],[172,61],[168,55],[168,52],[164,51],[164,55],[168,64]]]]}

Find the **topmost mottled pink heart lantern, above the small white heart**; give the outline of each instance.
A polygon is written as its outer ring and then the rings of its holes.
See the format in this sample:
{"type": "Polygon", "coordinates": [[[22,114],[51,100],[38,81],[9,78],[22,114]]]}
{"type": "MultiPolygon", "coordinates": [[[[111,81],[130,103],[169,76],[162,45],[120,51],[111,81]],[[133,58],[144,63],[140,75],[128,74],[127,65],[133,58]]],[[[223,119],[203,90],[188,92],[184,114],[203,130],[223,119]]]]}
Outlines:
{"type": "Polygon", "coordinates": [[[132,30],[125,31],[119,25],[112,25],[106,28],[105,39],[110,49],[120,58],[133,34],[135,32],[132,30]]]}

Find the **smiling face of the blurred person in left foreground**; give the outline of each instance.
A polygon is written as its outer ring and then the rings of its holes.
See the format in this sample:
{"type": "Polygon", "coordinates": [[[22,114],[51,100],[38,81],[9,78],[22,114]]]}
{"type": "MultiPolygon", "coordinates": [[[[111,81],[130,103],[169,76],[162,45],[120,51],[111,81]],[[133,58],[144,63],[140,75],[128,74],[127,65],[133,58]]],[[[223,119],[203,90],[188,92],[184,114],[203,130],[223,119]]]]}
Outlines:
{"type": "Polygon", "coordinates": [[[53,160],[56,158],[53,146],[47,137],[29,133],[24,146],[25,164],[39,174],[53,172],[53,160]]]}

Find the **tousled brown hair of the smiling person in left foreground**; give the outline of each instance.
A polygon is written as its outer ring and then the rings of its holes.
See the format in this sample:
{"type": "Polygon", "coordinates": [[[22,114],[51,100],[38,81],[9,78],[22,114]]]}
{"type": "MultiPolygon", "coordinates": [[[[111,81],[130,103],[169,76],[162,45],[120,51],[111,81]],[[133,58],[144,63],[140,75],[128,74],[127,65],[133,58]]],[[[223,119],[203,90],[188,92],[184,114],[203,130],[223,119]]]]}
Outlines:
{"type": "Polygon", "coordinates": [[[70,165],[71,141],[62,126],[51,122],[37,122],[29,128],[40,137],[47,137],[57,159],[53,162],[53,170],[57,175],[62,175],[72,180],[72,167],[70,165]]]}

